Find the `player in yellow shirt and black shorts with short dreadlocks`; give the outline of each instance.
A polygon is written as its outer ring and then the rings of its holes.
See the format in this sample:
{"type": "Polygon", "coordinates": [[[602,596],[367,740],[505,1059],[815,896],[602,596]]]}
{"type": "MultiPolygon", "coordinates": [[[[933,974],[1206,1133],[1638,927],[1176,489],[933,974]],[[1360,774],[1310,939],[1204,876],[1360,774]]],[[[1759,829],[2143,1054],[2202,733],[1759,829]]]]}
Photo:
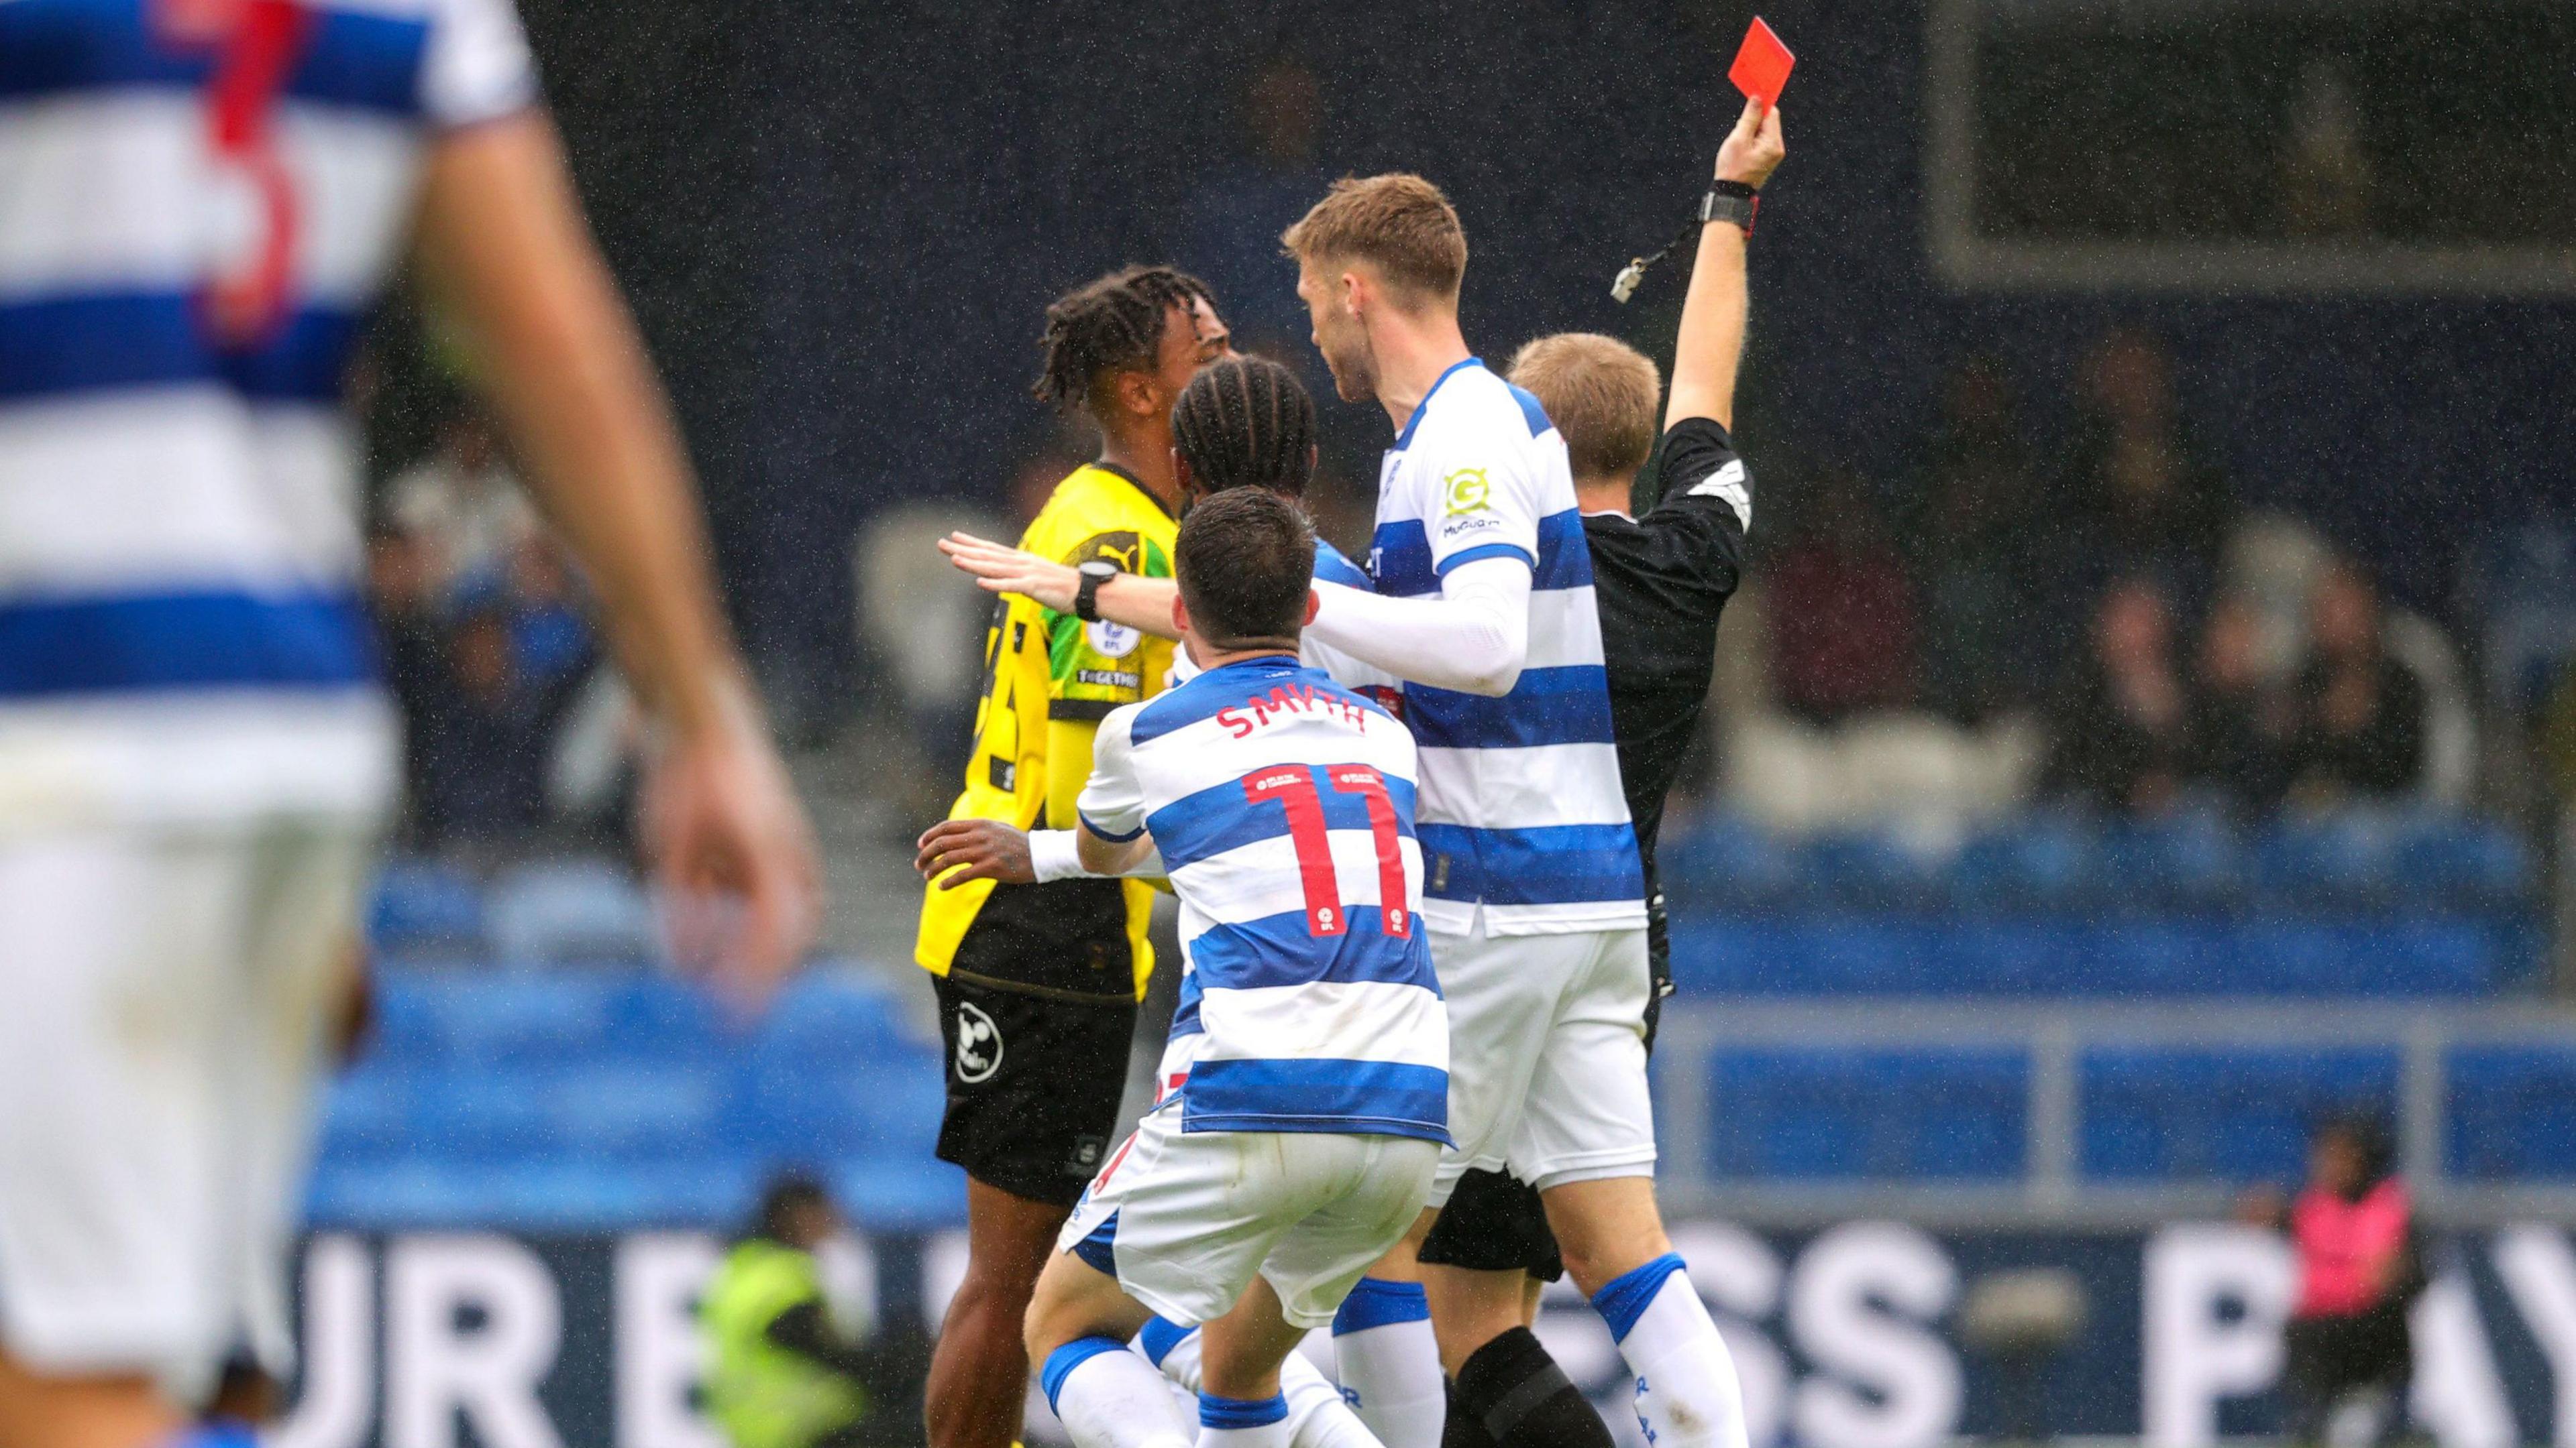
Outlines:
{"type": "MultiPolygon", "coordinates": [[[[1200,366],[1231,356],[1208,286],[1167,265],[1103,276],[1046,309],[1041,348],[1036,397],[1082,407],[1100,425],[1100,459],[1056,484],[1020,546],[1090,569],[1095,587],[1113,572],[1172,577],[1172,402],[1200,366]]],[[[951,819],[1072,824],[1100,719],[1164,688],[1170,644],[1069,603],[997,600],[951,819]]],[[[1151,897],[1128,881],[984,879],[940,881],[922,902],[914,958],[933,974],[951,1062],[938,1154],[966,1170],[966,1275],[930,1360],[930,1448],[1010,1448],[1020,1435],[1020,1317],[1118,1126],[1154,966],[1151,897]]]]}

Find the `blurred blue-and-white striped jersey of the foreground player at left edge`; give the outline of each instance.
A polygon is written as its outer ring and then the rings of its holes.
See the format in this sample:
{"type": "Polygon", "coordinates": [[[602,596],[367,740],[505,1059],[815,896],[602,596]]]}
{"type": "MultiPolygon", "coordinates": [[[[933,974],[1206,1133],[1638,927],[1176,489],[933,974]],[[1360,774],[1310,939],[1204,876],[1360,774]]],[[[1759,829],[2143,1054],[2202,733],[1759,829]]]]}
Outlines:
{"type": "Polygon", "coordinates": [[[0,0],[0,827],[361,812],[343,371],[507,0],[0,0]]]}

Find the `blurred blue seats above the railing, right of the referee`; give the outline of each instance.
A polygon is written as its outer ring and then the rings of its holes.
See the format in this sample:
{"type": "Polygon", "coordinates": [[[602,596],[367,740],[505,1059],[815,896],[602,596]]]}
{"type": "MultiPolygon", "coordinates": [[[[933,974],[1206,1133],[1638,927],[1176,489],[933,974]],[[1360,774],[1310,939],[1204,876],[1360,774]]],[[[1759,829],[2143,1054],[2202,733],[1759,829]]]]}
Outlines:
{"type": "Polygon", "coordinates": [[[1705,995],[2481,997],[2543,943],[2530,850],[2476,819],[2040,812],[1947,861],[1713,819],[1662,863],[1674,976],[1705,995]]]}

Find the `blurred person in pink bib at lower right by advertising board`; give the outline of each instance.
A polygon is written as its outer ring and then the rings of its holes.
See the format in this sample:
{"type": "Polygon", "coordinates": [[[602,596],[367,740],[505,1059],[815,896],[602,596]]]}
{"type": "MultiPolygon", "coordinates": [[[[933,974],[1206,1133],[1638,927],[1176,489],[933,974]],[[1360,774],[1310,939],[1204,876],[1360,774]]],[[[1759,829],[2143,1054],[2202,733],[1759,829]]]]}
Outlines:
{"type": "Polygon", "coordinates": [[[2246,1221],[2290,1234],[2298,1301],[2282,1332],[2290,1440],[2385,1443],[2414,1376],[2406,1309],[2424,1291],[2424,1250],[2388,1131],[2367,1116],[2326,1121],[2308,1139],[2308,1188],[2282,1203],[2257,1190],[2246,1221]]]}

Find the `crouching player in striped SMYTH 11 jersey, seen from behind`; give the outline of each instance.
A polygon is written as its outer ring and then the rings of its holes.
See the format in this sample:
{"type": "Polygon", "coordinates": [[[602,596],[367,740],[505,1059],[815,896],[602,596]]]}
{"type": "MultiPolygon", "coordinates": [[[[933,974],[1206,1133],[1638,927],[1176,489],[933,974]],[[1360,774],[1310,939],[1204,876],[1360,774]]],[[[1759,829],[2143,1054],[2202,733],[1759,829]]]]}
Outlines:
{"type": "MultiPolygon", "coordinates": [[[[1242,487],[1180,528],[1198,672],[1100,727],[1079,853],[1159,855],[1182,907],[1162,1100],[1064,1226],[1028,1350],[1082,1448],[1288,1448],[1280,1366],[1412,1226],[1448,1141],[1414,739],[1298,662],[1314,533],[1242,487]],[[1198,1430],[1128,1350],[1200,1332],[1198,1430]]],[[[1365,1440],[1365,1435],[1360,1435],[1365,1440]]]]}

